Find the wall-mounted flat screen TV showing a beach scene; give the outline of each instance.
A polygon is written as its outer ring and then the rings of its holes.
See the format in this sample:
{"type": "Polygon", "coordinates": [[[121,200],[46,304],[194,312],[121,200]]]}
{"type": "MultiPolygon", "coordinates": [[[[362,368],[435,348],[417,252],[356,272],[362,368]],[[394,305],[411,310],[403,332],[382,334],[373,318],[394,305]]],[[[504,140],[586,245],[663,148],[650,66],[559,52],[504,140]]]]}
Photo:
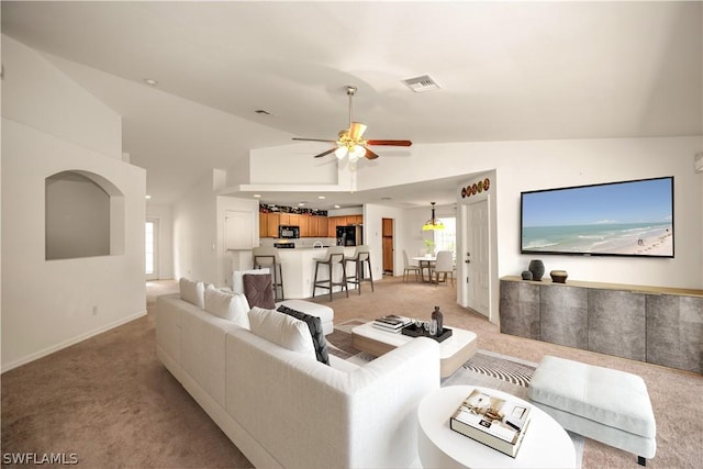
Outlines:
{"type": "Polygon", "coordinates": [[[673,257],[673,177],[522,192],[521,252],[673,257]]]}

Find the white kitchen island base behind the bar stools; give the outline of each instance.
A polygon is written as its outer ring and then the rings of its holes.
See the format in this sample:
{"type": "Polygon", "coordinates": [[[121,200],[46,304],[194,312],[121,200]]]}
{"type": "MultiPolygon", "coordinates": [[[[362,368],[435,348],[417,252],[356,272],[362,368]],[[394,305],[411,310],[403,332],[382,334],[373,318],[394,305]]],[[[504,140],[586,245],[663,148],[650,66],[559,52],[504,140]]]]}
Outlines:
{"type": "MultiPolygon", "coordinates": [[[[356,247],[349,246],[344,248],[345,257],[354,257],[356,247]]],[[[325,257],[326,248],[294,248],[278,249],[281,259],[281,269],[283,270],[283,290],[286,299],[303,299],[312,297],[312,283],[315,276],[315,261],[325,257]]],[[[354,263],[347,264],[347,277],[356,272],[354,263]]],[[[317,280],[328,279],[328,269],[321,266],[317,272],[317,280]]],[[[334,267],[334,280],[342,279],[342,268],[334,267]]],[[[335,287],[333,291],[339,291],[339,287],[335,287]]],[[[327,293],[325,289],[319,289],[317,295],[327,293]]]]}

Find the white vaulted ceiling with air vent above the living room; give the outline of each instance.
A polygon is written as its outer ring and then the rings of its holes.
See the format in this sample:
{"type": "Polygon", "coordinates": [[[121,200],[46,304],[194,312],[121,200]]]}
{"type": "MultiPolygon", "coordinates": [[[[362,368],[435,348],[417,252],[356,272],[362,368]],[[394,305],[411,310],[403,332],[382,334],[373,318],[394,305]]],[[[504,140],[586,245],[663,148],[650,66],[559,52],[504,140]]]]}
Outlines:
{"type": "MultiPolygon", "coordinates": [[[[1,8],[3,34],[47,54],[123,115],[124,152],[147,169],[153,202],[169,204],[249,148],[335,137],[347,125],[346,83],[359,88],[355,119],[369,125],[369,138],[700,135],[702,5],[3,0],[1,8]],[[442,89],[413,93],[401,82],[422,74],[442,89]]],[[[450,202],[456,186],[447,182],[386,196],[450,202]]],[[[377,200],[375,192],[348,199],[377,200]]],[[[310,194],[264,200],[300,197],[310,194]]]]}

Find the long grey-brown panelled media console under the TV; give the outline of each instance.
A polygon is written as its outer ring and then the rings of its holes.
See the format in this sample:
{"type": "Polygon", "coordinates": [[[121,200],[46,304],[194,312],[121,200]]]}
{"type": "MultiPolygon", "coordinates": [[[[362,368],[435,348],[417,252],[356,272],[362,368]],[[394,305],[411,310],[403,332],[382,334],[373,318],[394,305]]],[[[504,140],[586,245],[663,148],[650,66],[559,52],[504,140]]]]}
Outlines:
{"type": "Polygon", "coordinates": [[[703,291],[501,279],[501,332],[703,373],[703,291]]]}

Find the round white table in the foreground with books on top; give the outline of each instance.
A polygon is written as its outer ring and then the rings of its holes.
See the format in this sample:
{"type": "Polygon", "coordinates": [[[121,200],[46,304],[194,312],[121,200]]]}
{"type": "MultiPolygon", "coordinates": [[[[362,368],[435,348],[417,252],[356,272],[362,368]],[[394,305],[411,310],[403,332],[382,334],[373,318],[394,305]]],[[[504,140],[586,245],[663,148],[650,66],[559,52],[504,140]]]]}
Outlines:
{"type": "Polygon", "coordinates": [[[417,407],[417,451],[426,468],[576,468],[576,449],[567,432],[544,411],[506,392],[475,386],[449,386],[426,395],[417,407]],[[449,417],[471,390],[531,407],[517,457],[512,458],[449,428],[449,417]]]}

